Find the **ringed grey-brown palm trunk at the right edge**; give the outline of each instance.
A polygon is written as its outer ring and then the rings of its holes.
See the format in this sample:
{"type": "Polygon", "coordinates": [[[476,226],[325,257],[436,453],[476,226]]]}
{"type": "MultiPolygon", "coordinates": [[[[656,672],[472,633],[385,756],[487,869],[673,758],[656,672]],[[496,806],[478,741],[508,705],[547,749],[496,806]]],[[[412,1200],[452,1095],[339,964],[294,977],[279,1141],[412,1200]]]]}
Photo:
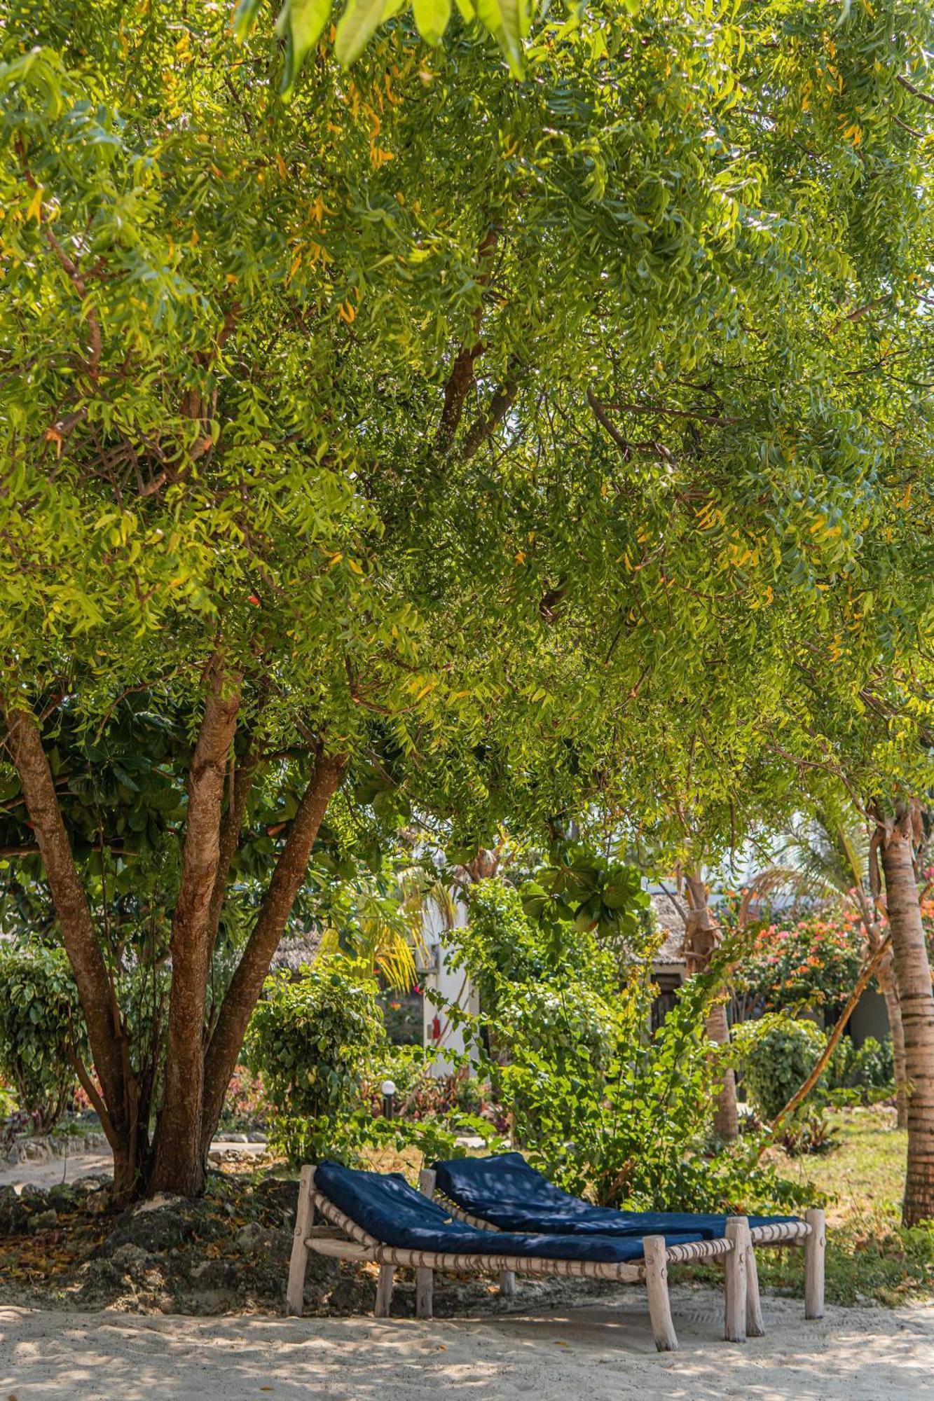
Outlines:
{"type": "Polygon", "coordinates": [[[893,818],[877,811],[909,1080],[906,1226],[934,1217],[934,995],[914,878],[914,815],[906,804],[893,818]]]}

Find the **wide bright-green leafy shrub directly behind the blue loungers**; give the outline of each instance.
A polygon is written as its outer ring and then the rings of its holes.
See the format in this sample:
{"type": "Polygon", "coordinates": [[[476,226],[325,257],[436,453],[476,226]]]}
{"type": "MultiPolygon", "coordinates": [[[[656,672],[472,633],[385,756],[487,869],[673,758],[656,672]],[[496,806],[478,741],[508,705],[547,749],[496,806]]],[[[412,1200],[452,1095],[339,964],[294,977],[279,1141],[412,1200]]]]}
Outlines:
{"type": "MultiPolygon", "coordinates": [[[[602,1007],[607,1044],[596,1048],[578,1034],[567,1002],[564,1035],[543,1035],[533,1017],[498,1026],[510,1058],[491,1073],[529,1159],[558,1185],[606,1205],[717,1212],[794,1205],[795,1188],[756,1163],[756,1145],[707,1153],[726,1058],[707,1038],[705,1013],[722,978],[719,962],[691,978],[649,1035],[654,988],[631,969],[602,1007]]],[[[529,1006],[539,992],[527,993],[529,1006]]],[[[513,1005],[524,995],[515,989],[513,1005]]]]}

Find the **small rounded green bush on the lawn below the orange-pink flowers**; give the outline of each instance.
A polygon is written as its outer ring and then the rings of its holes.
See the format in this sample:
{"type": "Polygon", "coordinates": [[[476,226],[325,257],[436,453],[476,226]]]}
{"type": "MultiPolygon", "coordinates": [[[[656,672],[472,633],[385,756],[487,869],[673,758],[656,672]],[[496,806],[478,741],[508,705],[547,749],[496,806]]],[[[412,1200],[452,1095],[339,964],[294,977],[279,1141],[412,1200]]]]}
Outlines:
{"type": "MultiPolygon", "coordinates": [[[[827,1044],[813,1021],[794,1017],[763,1017],[733,1030],[743,1072],[743,1089],[760,1119],[771,1124],[804,1084],[827,1044]]],[[[815,1086],[815,1100],[826,1090],[827,1072],[815,1086]]]]}

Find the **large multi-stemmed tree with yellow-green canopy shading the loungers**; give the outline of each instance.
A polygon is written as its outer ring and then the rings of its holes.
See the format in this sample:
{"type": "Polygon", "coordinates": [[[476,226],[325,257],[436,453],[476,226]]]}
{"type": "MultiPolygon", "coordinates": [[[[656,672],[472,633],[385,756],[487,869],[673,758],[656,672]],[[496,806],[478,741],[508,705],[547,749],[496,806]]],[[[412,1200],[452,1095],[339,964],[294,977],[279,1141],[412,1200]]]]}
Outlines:
{"type": "Polygon", "coordinates": [[[613,792],[722,810],[774,738],[889,451],[846,354],[916,272],[926,21],[740,8],[544,24],[522,84],[398,22],[287,108],[265,39],[181,0],[11,17],[10,845],[38,846],[118,1194],[201,1188],[325,814],[381,793],[489,845],[613,792]],[[154,831],[133,723],[171,731],[154,831]],[[95,765],[126,792],[88,832],[95,765]],[[128,810],[171,969],[146,1083],[102,888],[128,810]]]}

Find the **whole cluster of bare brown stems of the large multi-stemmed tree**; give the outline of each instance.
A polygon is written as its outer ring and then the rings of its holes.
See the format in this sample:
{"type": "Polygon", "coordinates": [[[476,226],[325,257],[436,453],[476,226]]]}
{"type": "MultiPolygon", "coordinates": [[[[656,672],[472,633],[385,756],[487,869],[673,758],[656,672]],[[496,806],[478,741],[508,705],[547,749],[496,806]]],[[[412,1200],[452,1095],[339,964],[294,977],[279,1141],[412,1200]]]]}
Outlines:
{"type": "Polygon", "coordinates": [[[238,678],[220,658],[210,667],[210,688],[192,757],[182,871],[171,930],[171,993],[163,1107],[149,1149],[147,1094],[130,1068],[129,1038],[116,1006],[94,920],[65,828],[55,782],[31,712],[10,710],[7,745],[15,764],[29,821],[42,855],[52,902],[62,926],[87,1024],[98,1087],[72,1056],[114,1152],[114,1191],[125,1203],[146,1191],[196,1195],[217,1128],[224,1094],[243,1045],[250,1014],[269,961],[304,880],[311,848],[346,761],[317,752],[309,786],[292,821],[215,1033],[206,1033],[206,989],[227,874],[243,825],[255,764],[231,779],[222,821],[226,768],[237,712],[238,678]]]}

